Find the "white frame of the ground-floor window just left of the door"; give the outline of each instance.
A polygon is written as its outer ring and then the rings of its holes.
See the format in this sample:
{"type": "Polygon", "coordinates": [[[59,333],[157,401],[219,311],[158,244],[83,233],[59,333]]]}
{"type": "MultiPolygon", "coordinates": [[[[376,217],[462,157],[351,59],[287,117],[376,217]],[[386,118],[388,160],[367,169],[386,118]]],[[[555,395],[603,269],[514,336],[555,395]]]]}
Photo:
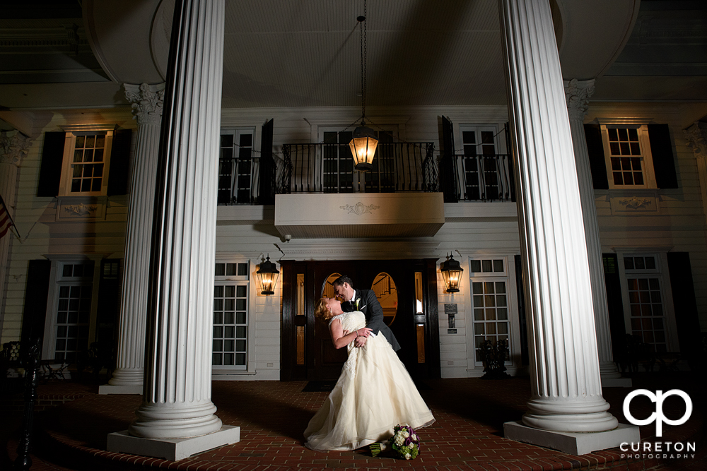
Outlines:
{"type": "MultiPolygon", "coordinates": [[[[245,263],[246,265],[246,274],[245,275],[238,275],[238,265],[236,265],[236,274],[235,275],[214,275],[214,287],[216,286],[235,286],[236,290],[238,290],[238,286],[245,286],[245,299],[246,299],[246,307],[245,307],[245,332],[246,332],[246,337],[245,337],[245,365],[211,365],[211,372],[212,374],[255,374],[255,361],[253,361],[254,357],[254,352],[253,350],[253,344],[255,342],[255,322],[252,320],[252,315],[255,312],[254,311],[254,297],[252,295],[252,287],[251,287],[251,277],[250,277],[250,272],[252,270],[252,263],[250,263],[249,260],[245,258],[216,258],[216,261],[214,263],[214,268],[216,264],[218,263],[245,263]]],[[[227,272],[226,272],[227,273],[227,272]]],[[[213,306],[213,304],[212,304],[213,306]]],[[[212,333],[211,337],[213,339],[213,326],[214,326],[214,310],[213,307],[211,309],[211,326],[212,326],[212,333]]],[[[238,326],[238,324],[234,324],[234,326],[238,326]]],[[[213,353],[213,343],[211,344],[211,350],[213,353]]],[[[235,354],[235,352],[234,352],[235,354]]]]}

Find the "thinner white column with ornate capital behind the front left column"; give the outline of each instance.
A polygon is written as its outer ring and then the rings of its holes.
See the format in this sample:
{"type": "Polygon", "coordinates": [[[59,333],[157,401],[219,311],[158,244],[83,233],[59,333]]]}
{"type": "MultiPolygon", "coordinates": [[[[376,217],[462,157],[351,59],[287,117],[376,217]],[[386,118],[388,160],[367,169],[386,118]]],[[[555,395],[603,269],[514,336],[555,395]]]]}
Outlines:
{"type": "Polygon", "coordinates": [[[99,394],[142,394],[145,327],[160,122],[165,85],[124,84],[137,120],[120,299],[116,368],[99,394]]]}

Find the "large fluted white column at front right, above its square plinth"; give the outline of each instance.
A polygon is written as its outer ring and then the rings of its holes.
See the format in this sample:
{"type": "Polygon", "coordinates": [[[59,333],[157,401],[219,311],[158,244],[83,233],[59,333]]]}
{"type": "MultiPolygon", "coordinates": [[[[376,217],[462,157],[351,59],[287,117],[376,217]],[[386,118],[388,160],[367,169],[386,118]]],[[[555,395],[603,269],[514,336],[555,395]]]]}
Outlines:
{"type": "Polygon", "coordinates": [[[532,398],[523,423],[617,427],[597,358],[587,244],[559,54],[547,1],[499,0],[506,52],[532,398]]]}

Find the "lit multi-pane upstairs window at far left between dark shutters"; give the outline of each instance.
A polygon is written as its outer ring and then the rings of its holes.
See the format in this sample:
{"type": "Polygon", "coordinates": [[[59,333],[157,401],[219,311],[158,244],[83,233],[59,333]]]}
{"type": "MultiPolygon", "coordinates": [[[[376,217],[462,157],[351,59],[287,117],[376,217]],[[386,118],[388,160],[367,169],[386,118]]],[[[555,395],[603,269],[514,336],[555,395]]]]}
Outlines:
{"type": "Polygon", "coordinates": [[[106,193],[112,135],[112,131],[66,133],[62,195],[106,193]]]}

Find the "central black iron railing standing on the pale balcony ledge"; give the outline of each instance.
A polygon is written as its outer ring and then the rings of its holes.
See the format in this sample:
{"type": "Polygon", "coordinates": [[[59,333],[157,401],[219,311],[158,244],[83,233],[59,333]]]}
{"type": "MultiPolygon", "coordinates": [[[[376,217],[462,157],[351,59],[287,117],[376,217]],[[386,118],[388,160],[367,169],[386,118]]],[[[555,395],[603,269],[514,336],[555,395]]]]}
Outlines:
{"type": "Polygon", "coordinates": [[[440,191],[434,143],[378,143],[373,170],[355,172],[348,144],[284,144],[277,193],[440,191]]]}

